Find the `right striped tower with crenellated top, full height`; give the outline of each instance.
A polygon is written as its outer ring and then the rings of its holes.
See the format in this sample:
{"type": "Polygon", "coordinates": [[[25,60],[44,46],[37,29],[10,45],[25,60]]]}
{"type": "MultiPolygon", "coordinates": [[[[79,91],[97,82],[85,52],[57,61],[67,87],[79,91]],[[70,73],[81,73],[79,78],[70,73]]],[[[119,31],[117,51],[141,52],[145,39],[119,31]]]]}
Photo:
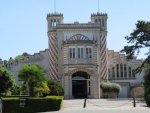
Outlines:
{"type": "Polygon", "coordinates": [[[100,26],[98,38],[98,65],[101,80],[108,79],[107,75],[107,14],[94,13],[91,14],[91,22],[100,26]]]}

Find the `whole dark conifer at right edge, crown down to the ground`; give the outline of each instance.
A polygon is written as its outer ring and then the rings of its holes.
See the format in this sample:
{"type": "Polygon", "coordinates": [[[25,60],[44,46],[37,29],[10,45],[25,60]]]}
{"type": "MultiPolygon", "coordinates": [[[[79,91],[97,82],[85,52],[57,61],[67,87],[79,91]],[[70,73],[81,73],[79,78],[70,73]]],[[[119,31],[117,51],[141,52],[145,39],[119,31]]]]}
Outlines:
{"type": "Polygon", "coordinates": [[[138,55],[141,49],[147,48],[147,52],[145,53],[146,59],[135,72],[141,72],[143,69],[145,71],[144,98],[147,106],[150,106],[150,22],[138,21],[136,29],[130,36],[126,36],[125,39],[130,45],[125,46],[121,52],[125,52],[128,59],[132,59],[135,55],[138,55]]]}

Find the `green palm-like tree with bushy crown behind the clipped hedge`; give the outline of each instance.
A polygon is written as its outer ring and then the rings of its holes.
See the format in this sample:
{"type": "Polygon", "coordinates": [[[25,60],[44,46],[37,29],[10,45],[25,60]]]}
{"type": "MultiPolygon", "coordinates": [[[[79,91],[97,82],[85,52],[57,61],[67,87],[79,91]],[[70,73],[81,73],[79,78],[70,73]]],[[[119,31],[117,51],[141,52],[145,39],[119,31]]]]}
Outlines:
{"type": "Polygon", "coordinates": [[[25,64],[23,69],[19,71],[19,78],[28,85],[29,96],[35,96],[35,88],[38,88],[46,80],[45,73],[42,68],[36,64],[25,64]]]}

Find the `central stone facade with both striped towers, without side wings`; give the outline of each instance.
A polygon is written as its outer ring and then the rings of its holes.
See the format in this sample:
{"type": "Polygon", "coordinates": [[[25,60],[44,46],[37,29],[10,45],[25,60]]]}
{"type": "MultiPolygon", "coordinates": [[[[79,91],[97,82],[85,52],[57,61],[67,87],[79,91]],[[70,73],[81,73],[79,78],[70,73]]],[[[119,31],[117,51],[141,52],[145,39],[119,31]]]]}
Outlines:
{"type": "Polygon", "coordinates": [[[49,75],[60,81],[65,98],[100,98],[107,79],[107,14],[92,14],[89,23],[63,23],[48,14],[49,75]]]}

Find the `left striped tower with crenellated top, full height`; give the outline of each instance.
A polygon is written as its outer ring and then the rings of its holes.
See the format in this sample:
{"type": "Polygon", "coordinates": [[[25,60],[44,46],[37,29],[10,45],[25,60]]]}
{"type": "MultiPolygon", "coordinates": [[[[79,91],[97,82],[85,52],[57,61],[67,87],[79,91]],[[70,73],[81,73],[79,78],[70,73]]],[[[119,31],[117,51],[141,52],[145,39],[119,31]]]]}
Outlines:
{"type": "Polygon", "coordinates": [[[49,78],[58,80],[58,39],[56,27],[63,23],[63,14],[48,14],[49,78]]]}

